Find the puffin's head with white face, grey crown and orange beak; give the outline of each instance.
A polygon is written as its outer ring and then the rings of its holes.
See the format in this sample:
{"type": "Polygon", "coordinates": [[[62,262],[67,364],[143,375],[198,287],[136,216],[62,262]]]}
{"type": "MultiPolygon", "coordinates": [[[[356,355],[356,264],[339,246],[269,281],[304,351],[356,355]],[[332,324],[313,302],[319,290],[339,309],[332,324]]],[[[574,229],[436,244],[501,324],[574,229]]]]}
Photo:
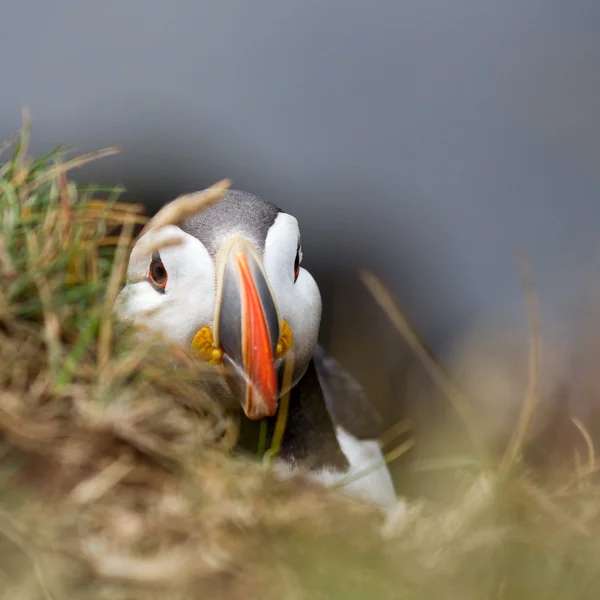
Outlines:
{"type": "Polygon", "coordinates": [[[220,202],[136,242],[115,308],[222,369],[227,394],[250,419],[273,416],[283,364],[291,385],[317,344],[319,288],[301,266],[298,221],[257,196],[220,202]],[[177,243],[160,246],[161,240],[177,243]],[[152,248],[159,250],[152,250],[152,248]]]}

